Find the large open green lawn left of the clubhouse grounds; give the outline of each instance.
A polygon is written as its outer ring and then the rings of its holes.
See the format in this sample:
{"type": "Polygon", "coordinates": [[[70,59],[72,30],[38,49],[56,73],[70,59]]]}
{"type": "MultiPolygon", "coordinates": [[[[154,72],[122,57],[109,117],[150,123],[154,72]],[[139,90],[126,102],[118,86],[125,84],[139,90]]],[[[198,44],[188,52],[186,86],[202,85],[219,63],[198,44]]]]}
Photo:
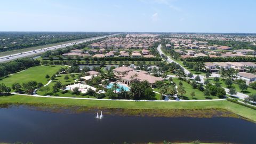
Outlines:
{"type": "Polygon", "coordinates": [[[13,83],[18,82],[22,84],[23,82],[36,81],[41,82],[44,85],[47,84],[48,79],[45,75],[48,74],[50,77],[55,74],[60,67],[66,66],[36,66],[21,71],[20,73],[15,73],[7,78],[4,78],[0,83],[4,83],[6,86],[12,86],[13,83]]]}

